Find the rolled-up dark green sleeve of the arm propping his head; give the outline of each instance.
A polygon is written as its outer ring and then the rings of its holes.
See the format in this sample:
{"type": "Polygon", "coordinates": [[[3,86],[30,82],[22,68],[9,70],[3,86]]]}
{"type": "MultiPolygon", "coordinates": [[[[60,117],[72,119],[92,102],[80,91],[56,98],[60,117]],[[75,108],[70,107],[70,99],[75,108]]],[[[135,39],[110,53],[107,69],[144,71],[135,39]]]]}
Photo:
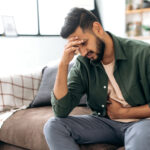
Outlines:
{"type": "Polygon", "coordinates": [[[81,70],[81,64],[77,61],[69,72],[68,93],[64,97],[57,100],[54,92],[51,93],[51,104],[55,116],[67,117],[72,109],[79,104],[82,95],[85,93],[81,70]]]}

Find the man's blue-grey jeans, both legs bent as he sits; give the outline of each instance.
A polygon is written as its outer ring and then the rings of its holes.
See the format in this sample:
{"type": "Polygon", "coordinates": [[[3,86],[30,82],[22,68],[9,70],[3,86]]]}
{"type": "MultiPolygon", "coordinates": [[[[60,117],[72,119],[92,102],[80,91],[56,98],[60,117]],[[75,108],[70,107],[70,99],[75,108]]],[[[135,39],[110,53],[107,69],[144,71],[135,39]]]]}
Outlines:
{"type": "Polygon", "coordinates": [[[78,144],[125,145],[126,150],[150,150],[150,120],[122,123],[93,115],[54,117],[44,126],[50,150],[80,150],[78,144]]]}

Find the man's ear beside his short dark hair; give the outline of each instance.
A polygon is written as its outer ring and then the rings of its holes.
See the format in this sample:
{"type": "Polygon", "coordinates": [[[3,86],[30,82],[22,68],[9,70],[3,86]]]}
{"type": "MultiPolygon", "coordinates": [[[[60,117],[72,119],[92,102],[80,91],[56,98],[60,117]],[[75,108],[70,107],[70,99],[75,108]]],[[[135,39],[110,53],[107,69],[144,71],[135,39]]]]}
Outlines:
{"type": "Polygon", "coordinates": [[[103,33],[103,28],[99,22],[93,22],[93,27],[92,27],[93,32],[98,36],[103,33]]]}

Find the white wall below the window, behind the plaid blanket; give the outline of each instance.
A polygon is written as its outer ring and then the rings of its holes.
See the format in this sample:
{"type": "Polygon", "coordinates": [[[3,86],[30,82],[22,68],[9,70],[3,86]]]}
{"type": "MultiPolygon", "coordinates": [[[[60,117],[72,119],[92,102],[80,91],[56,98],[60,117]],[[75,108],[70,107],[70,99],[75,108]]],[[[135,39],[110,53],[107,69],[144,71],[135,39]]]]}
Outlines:
{"type": "Polygon", "coordinates": [[[0,75],[45,66],[61,57],[66,41],[60,37],[0,37],[0,75]]]}

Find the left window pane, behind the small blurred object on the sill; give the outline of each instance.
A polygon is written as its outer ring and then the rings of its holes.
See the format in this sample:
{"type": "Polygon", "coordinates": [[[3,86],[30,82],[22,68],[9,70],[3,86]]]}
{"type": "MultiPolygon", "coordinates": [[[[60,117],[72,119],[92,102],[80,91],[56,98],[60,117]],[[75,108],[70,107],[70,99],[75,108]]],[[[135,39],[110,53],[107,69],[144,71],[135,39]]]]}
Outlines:
{"type": "Polygon", "coordinates": [[[5,28],[2,19],[13,16],[18,34],[38,34],[36,0],[0,0],[0,16],[0,30],[5,28]]]}

